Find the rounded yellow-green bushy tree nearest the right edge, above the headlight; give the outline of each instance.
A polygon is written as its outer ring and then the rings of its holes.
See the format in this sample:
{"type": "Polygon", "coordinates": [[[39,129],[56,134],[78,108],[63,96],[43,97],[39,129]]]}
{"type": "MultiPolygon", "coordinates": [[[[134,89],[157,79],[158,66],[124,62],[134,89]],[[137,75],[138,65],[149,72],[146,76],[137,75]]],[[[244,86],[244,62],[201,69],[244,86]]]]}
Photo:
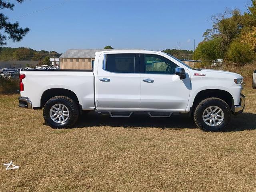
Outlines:
{"type": "Polygon", "coordinates": [[[237,65],[245,65],[255,59],[255,53],[252,46],[234,41],[228,49],[227,59],[237,65]]]}

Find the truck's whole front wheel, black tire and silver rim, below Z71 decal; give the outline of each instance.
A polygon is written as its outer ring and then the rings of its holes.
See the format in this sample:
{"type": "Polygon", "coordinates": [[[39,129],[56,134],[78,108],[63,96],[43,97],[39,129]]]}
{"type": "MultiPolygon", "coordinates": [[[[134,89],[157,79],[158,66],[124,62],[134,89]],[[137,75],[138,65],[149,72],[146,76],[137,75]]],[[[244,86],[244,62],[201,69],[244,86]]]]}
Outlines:
{"type": "Polygon", "coordinates": [[[228,126],[230,118],[230,107],[224,100],[219,98],[202,100],[194,112],[194,121],[203,131],[223,131],[228,126]]]}

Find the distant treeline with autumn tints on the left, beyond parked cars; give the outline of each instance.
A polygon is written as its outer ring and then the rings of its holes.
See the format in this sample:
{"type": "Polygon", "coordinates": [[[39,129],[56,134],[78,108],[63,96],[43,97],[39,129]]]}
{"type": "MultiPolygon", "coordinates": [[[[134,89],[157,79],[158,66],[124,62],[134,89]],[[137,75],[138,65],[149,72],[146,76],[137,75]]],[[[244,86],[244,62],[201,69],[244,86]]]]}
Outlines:
{"type": "Polygon", "coordinates": [[[44,59],[46,56],[50,58],[58,58],[61,54],[56,51],[36,51],[26,47],[11,48],[3,47],[0,48],[0,60],[4,61],[39,61],[44,59]]]}

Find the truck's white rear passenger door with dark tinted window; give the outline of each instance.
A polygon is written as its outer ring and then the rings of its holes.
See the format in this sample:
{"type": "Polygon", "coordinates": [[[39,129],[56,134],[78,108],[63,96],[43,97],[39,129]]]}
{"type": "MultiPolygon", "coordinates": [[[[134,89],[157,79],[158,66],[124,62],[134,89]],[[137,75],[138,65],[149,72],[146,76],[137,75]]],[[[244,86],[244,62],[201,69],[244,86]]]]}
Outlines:
{"type": "Polygon", "coordinates": [[[138,54],[105,54],[96,81],[97,109],[140,108],[138,54]]]}

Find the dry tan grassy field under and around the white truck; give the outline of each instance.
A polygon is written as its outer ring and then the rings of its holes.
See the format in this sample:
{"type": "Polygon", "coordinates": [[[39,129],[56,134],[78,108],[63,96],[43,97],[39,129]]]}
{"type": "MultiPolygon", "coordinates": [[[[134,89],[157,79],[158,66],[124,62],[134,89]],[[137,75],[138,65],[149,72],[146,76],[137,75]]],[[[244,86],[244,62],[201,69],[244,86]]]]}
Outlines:
{"type": "Polygon", "coordinates": [[[256,90],[227,132],[191,118],[110,118],[89,113],[72,129],[0,95],[0,191],[256,191],[256,90]]]}

